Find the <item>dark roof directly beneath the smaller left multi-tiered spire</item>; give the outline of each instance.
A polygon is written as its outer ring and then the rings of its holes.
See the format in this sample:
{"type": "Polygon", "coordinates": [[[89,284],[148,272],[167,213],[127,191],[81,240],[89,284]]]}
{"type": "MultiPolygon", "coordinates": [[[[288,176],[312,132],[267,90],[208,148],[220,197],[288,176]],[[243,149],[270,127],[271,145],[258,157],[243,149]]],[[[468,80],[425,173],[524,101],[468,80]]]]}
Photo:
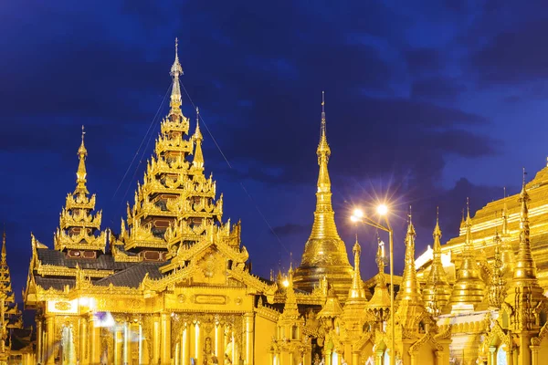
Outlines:
{"type": "Polygon", "coordinates": [[[112,255],[100,254],[96,259],[89,258],[68,258],[65,253],[49,248],[37,249],[38,259],[44,265],[65,266],[74,268],[77,265],[80,268],[97,270],[123,270],[134,266],[135,263],[116,262],[112,255]]]}

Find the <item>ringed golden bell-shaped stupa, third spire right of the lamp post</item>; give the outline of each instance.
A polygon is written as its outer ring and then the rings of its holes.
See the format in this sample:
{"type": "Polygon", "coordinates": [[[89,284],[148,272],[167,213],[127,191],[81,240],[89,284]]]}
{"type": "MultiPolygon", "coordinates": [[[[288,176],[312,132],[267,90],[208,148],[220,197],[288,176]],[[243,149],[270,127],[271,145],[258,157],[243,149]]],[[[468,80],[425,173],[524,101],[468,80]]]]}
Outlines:
{"type": "MultiPolygon", "coordinates": [[[[485,283],[479,276],[479,268],[472,245],[472,219],[470,218],[469,199],[467,198],[466,241],[462,250],[462,263],[458,268],[457,280],[451,294],[453,308],[462,305],[477,305],[484,296],[485,283]]],[[[458,309],[458,308],[457,308],[458,309]]]]}

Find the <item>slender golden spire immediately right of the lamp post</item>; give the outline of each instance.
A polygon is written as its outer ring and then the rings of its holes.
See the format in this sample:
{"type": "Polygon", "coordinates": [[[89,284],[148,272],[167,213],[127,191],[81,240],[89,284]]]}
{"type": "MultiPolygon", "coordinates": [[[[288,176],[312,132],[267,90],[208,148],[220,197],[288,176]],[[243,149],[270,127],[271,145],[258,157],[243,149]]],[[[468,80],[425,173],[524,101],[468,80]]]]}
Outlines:
{"type": "Polygon", "coordinates": [[[396,300],[398,302],[406,301],[410,304],[423,303],[420,295],[420,285],[416,278],[415,268],[415,226],[412,221],[411,207],[409,207],[409,224],[407,224],[406,234],[406,258],[404,264],[404,275],[402,284],[397,292],[396,300]]]}

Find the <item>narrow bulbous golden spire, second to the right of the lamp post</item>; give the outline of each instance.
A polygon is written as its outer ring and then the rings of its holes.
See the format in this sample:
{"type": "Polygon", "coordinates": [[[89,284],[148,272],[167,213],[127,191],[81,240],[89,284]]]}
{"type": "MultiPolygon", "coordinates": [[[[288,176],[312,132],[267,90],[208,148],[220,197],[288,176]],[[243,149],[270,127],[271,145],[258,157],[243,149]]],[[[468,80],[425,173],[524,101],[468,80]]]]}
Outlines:
{"type": "Polygon", "coordinates": [[[451,297],[451,287],[448,276],[441,263],[441,229],[439,228],[439,208],[436,213],[436,227],[434,227],[434,245],[432,266],[427,277],[427,285],[423,289],[425,305],[430,313],[440,314],[441,310],[448,304],[451,297]]]}

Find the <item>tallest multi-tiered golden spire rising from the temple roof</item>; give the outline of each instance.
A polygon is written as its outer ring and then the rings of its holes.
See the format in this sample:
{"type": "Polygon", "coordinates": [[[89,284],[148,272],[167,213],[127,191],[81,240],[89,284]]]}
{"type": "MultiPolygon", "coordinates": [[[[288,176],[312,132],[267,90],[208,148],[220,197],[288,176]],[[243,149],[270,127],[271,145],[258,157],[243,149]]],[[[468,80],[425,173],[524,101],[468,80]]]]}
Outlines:
{"type": "MultiPolygon", "coordinates": [[[[216,183],[204,175],[204,140],[196,108],[194,134],[189,133],[189,119],[181,110],[179,62],[175,42],[175,59],[170,75],[173,78],[170,111],[161,124],[154,154],[144,173],[144,181],[135,192],[135,203],[128,208],[127,227],[121,224],[121,235],[114,240],[117,252],[125,251],[140,259],[164,261],[174,257],[184,247],[214,239],[214,230],[225,235],[233,245],[239,245],[239,225],[218,230],[223,214],[222,195],[216,200],[216,183]],[[183,247],[184,246],[184,247],[183,247]]],[[[120,259],[126,259],[121,257],[120,259]]],[[[172,260],[173,261],[173,260],[172,260]]]]}

